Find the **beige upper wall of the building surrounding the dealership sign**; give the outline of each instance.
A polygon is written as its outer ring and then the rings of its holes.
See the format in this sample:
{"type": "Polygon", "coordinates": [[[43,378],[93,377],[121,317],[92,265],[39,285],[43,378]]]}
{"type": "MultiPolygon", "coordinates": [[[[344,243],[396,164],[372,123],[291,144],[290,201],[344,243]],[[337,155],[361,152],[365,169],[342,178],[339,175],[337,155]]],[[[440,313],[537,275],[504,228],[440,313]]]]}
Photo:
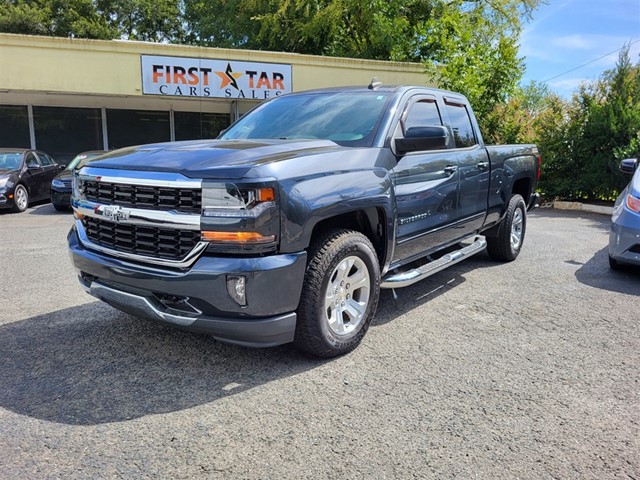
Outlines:
{"type": "MultiPolygon", "coordinates": [[[[0,34],[0,105],[106,105],[179,111],[193,109],[195,102],[201,111],[229,111],[228,99],[143,95],[140,66],[143,54],[289,64],[294,91],[367,85],[373,77],[387,85],[427,84],[422,66],[413,63],[0,34]]],[[[240,103],[254,104],[250,100],[240,103]]]]}

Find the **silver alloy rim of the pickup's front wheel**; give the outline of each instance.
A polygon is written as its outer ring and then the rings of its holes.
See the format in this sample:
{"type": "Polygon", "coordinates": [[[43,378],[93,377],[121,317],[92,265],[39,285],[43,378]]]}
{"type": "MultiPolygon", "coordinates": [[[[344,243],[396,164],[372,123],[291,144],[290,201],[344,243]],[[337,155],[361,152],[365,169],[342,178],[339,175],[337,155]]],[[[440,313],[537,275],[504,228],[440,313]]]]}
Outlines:
{"type": "Polygon", "coordinates": [[[348,335],[362,322],[371,290],[371,278],[360,257],[343,259],[331,272],[324,299],[329,328],[336,335],[348,335]]]}

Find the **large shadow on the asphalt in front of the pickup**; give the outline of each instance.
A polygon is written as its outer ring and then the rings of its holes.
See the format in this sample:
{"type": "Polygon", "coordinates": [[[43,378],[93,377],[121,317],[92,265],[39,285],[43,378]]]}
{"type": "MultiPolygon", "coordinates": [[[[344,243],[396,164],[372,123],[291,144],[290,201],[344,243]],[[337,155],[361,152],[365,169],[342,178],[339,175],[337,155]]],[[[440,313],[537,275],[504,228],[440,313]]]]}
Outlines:
{"type": "Polygon", "coordinates": [[[93,302],[0,326],[0,406],[96,425],[195,407],[322,364],[291,346],[225,345],[93,302]]]}

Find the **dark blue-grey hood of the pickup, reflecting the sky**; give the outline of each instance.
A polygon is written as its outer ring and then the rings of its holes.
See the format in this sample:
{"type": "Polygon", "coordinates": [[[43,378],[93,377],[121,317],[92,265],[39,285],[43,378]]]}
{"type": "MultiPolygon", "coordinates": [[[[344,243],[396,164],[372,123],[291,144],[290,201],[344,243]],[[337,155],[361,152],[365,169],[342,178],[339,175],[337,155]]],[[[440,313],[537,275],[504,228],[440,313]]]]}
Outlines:
{"type": "Polygon", "coordinates": [[[94,168],[175,172],[191,178],[242,178],[253,167],[342,150],[329,140],[208,140],[123,148],[94,168]]]}

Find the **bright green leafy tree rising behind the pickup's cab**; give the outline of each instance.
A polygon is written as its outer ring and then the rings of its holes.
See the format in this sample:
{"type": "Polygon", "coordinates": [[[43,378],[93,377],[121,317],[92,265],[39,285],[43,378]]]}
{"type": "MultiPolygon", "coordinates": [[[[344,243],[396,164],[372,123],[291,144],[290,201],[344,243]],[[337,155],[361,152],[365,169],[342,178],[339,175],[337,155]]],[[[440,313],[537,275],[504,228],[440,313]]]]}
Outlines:
{"type": "Polygon", "coordinates": [[[424,24],[420,50],[427,72],[442,88],[465,94],[481,122],[522,77],[521,19],[538,3],[438,0],[424,24]]]}

